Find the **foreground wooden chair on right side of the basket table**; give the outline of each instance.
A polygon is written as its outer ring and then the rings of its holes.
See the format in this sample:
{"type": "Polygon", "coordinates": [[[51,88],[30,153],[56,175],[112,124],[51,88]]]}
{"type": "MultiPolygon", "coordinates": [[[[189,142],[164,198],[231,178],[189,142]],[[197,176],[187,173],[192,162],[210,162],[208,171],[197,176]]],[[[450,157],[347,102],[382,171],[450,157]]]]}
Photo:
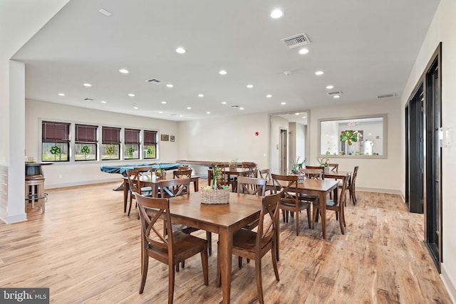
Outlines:
{"type": "MultiPolygon", "coordinates": [[[[261,282],[261,258],[271,251],[272,266],[276,281],[279,281],[276,258],[276,230],[279,229],[279,202],[281,192],[263,197],[257,231],[241,229],[233,235],[233,255],[255,261],[255,277],[259,303],[264,303],[261,282]]],[[[220,258],[217,253],[217,285],[221,283],[220,258]]],[[[229,258],[231,261],[231,258],[229,258]]]]}

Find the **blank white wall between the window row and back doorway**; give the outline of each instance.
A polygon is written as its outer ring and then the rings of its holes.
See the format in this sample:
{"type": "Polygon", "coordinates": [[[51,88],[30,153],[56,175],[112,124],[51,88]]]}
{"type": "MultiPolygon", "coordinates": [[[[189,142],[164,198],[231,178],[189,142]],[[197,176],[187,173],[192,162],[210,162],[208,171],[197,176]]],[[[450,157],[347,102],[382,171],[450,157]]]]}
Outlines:
{"type": "MultiPolygon", "coordinates": [[[[269,168],[268,119],[267,114],[254,114],[179,122],[178,159],[215,162],[237,159],[256,162],[259,169],[269,168]]],[[[207,174],[207,167],[194,169],[207,174]]]]}

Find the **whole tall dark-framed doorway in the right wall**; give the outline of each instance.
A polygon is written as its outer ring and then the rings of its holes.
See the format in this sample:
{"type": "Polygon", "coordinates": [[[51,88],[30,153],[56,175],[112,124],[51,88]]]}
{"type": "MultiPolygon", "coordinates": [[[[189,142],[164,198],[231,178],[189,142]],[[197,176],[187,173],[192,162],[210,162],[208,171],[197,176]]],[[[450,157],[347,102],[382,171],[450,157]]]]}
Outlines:
{"type": "Polygon", "coordinates": [[[405,107],[405,200],[424,213],[424,239],[440,272],[442,261],[442,45],[437,47],[405,107]]]}

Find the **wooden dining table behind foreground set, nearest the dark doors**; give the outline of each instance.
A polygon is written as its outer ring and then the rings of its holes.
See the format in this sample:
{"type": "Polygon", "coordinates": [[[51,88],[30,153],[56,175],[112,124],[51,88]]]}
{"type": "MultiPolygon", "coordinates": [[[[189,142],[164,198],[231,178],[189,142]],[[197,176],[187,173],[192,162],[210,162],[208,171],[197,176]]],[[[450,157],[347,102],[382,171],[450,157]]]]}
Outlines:
{"type": "MultiPolygon", "coordinates": [[[[266,183],[266,190],[274,189],[272,180],[266,183]]],[[[321,232],[323,239],[326,239],[326,197],[333,192],[334,200],[338,201],[338,181],[333,179],[304,179],[298,183],[298,189],[291,187],[290,192],[303,193],[318,196],[321,213],[321,232]]],[[[279,246],[277,246],[279,248],[279,246]]]]}

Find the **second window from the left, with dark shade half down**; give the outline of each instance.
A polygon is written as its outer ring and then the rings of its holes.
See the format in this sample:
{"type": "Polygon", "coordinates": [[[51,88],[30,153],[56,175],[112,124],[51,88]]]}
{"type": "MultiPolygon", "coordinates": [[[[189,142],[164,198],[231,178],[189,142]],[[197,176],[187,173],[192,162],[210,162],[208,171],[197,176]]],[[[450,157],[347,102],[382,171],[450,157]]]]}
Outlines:
{"type": "Polygon", "coordinates": [[[75,125],[74,160],[97,159],[97,132],[98,127],[96,125],[75,125]]]}

